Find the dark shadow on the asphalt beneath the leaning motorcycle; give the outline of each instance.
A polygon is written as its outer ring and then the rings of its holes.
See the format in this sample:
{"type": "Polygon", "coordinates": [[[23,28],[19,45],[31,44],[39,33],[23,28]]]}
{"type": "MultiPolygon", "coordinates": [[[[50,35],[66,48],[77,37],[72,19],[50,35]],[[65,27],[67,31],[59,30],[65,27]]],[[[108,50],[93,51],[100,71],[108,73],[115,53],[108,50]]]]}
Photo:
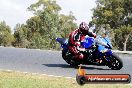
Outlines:
{"type": "MultiPolygon", "coordinates": [[[[47,66],[47,67],[60,67],[60,68],[74,68],[74,69],[78,69],[79,67],[73,67],[73,66],[70,66],[68,64],[42,64],[44,66],[47,66]]],[[[81,67],[82,69],[87,69],[87,70],[111,70],[111,69],[107,69],[107,68],[103,68],[103,67],[97,67],[97,66],[82,66],[81,67]]]]}

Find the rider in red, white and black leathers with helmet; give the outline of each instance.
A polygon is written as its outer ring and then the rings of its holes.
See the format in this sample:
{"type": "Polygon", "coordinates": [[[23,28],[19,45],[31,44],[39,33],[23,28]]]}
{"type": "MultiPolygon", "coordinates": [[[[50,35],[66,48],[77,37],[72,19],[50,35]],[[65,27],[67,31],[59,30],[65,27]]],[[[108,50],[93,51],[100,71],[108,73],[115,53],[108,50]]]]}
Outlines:
{"type": "Polygon", "coordinates": [[[89,32],[88,24],[85,22],[82,22],[79,28],[72,31],[69,35],[69,50],[76,60],[84,58],[84,55],[80,51],[85,51],[85,48],[81,47],[81,42],[84,41],[86,35],[96,38],[95,33],[89,32]]]}

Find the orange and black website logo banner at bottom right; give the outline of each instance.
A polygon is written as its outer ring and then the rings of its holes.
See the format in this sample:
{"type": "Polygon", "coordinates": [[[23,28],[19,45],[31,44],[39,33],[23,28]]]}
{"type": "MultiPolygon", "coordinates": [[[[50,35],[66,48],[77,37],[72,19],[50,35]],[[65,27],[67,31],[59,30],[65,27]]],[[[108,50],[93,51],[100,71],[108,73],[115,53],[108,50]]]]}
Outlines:
{"type": "Polygon", "coordinates": [[[81,66],[78,69],[76,75],[76,81],[79,85],[86,83],[123,83],[127,84],[131,82],[131,76],[129,74],[86,74],[81,66]]]}

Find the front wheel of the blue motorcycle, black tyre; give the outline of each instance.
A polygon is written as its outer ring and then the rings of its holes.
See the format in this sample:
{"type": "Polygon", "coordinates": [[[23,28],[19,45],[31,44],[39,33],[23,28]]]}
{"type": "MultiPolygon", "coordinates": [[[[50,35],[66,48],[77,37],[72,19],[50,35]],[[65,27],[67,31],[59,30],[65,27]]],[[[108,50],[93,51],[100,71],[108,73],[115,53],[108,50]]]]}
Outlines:
{"type": "Polygon", "coordinates": [[[120,70],[123,67],[122,60],[116,54],[112,54],[109,58],[108,67],[112,70],[120,70]]]}

